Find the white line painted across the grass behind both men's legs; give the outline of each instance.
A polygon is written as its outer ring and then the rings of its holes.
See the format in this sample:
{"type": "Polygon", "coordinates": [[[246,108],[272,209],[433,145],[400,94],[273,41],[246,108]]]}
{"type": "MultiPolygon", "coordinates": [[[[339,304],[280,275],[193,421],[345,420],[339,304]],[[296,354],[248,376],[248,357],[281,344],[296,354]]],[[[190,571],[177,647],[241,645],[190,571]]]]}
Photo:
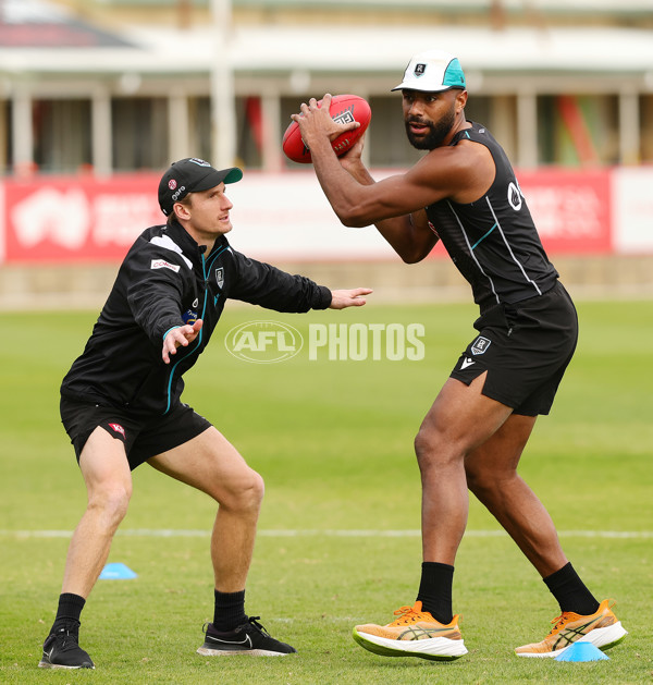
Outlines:
{"type": "MultiPolygon", "coordinates": [[[[210,530],[185,530],[177,528],[126,528],[116,535],[135,538],[205,538],[210,530]]],[[[0,529],[0,537],[11,538],[70,538],[72,530],[8,530],[0,529]]],[[[417,538],[421,535],[418,529],[407,530],[319,530],[319,529],[281,529],[259,530],[258,535],[266,538],[299,538],[299,537],[332,537],[332,538],[417,538]]],[[[494,538],[507,535],[504,530],[467,530],[467,537],[494,538]]],[[[558,530],[563,538],[653,538],[653,530],[558,530]]]]}

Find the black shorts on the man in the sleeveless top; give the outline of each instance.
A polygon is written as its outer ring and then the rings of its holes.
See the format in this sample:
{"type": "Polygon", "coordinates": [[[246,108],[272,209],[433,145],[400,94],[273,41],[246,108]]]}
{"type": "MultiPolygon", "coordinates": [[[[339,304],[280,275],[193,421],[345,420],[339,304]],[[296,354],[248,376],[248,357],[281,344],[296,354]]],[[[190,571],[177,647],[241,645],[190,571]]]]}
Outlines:
{"type": "Polygon", "coordinates": [[[515,414],[549,414],[578,340],[576,308],[563,284],[514,305],[497,305],[473,327],[479,335],[451,377],[469,386],[488,371],[482,394],[515,414]]]}

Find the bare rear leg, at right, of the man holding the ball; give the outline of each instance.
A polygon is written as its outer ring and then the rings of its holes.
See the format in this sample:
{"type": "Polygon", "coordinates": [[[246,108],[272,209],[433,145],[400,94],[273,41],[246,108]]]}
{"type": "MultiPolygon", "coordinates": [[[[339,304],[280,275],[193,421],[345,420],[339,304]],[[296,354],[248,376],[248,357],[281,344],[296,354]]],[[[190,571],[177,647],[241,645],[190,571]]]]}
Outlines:
{"type": "Polygon", "coordinates": [[[535,417],[513,415],[465,460],[469,489],[507,530],[542,577],[567,563],[549,512],[517,475],[535,417]]]}

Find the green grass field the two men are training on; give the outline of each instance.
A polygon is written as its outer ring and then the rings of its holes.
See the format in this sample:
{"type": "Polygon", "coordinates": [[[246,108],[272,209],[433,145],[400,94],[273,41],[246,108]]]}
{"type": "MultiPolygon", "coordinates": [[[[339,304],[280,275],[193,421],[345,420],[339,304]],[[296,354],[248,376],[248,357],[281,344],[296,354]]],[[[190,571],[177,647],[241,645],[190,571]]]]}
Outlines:
{"type": "Polygon", "coordinates": [[[60,591],[70,531],[85,505],[58,391],[97,313],[3,314],[0,383],[0,682],[2,683],[645,683],[653,681],[653,303],[579,304],[581,340],[554,412],[541,418],[521,474],[550,509],[568,556],[594,594],[618,600],[630,635],[609,661],[520,660],[557,604],[494,519],[471,502],[455,611],[469,655],[454,663],[383,659],[350,638],[412,603],[420,570],[420,491],[412,437],[472,335],[473,306],[278,315],[236,307],[187,375],[186,402],[266,478],[249,613],[299,653],[207,659],[212,615],[208,531],[214,506],[157,474],[134,473],[130,513],[109,561],[138,574],[100,580],[82,645],[97,670],[36,668],[60,591]],[[255,319],[422,323],[422,360],[234,358],[223,339],[255,319]],[[59,531],[59,533],[57,533],[59,531]]]}

